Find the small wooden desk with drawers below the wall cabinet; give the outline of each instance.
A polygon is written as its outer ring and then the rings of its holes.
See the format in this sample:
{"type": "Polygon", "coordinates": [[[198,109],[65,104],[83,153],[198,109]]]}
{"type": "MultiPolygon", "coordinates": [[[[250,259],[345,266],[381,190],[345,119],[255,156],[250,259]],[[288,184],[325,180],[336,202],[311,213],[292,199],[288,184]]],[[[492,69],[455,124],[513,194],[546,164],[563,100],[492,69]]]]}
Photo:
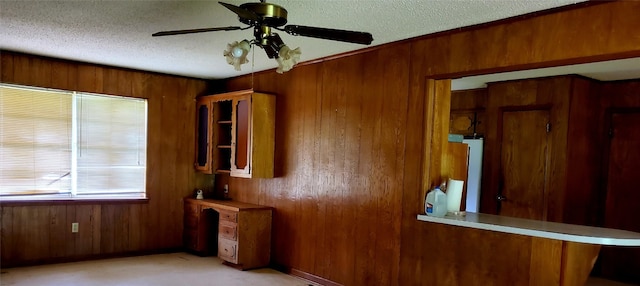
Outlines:
{"type": "Polygon", "coordinates": [[[269,265],[272,208],[237,201],[184,200],[184,243],[240,269],[269,265]],[[213,210],[213,216],[206,210],[213,210]]]}

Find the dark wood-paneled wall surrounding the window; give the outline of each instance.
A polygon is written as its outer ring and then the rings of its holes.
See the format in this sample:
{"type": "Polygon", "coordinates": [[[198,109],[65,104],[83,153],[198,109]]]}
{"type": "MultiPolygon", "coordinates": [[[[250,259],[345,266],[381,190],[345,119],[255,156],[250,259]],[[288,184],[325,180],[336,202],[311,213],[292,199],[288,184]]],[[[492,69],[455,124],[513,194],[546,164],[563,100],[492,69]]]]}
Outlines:
{"type": "Polygon", "coordinates": [[[2,51],[3,83],[148,100],[144,203],[2,202],[2,267],[153,252],[182,246],[182,198],[211,184],[196,174],[195,96],[203,80],[53,60],[2,51]],[[71,223],[79,223],[71,233],[71,223]]]}

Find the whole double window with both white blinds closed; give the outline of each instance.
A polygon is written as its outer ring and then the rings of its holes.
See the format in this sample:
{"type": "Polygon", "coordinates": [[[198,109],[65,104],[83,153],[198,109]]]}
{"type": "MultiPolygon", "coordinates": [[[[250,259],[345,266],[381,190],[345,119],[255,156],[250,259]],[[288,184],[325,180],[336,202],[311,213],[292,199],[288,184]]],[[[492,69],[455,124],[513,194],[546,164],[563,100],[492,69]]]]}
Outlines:
{"type": "Polygon", "coordinates": [[[0,85],[0,198],[145,198],[147,102],[0,85]]]}

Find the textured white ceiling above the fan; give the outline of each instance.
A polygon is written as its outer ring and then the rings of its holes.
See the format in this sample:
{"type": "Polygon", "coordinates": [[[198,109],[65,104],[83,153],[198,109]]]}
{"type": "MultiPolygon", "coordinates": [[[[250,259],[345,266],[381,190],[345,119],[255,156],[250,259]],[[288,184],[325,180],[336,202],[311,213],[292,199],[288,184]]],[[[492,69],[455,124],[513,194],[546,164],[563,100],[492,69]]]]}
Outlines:
{"type": "MultiPolygon", "coordinates": [[[[226,0],[234,5],[245,2],[226,0]]],[[[380,45],[569,5],[576,0],[273,0],[288,24],[365,31],[380,45]]],[[[243,26],[217,1],[0,0],[0,48],[90,63],[219,79],[275,68],[264,51],[237,72],[222,52],[251,30],[151,37],[158,31],[243,26]]],[[[301,61],[366,46],[279,33],[301,61]]]]}

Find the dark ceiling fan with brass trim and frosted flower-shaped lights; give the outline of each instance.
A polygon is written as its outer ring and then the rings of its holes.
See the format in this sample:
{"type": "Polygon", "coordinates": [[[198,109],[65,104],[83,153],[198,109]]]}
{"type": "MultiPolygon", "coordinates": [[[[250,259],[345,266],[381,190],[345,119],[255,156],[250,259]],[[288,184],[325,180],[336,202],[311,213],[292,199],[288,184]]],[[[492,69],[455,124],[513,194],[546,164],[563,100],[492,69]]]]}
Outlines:
{"type": "Polygon", "coordinates": [[[236,70],[240,70],[240,64],[248,62],[246,55],[250,46],[255,45],[262,48],[270,59],[275,58],[278,61],[280,64],[278,72],[281,72],[280,68],[282,67],[284,67],[284,71],[287,71],[295,65],[300,58],[300,50],[299,48],[295,50],[289,49],[284,42],[282,42],[280,36],[277,33],[274,33],[273,30],[284,31],[293,36],[304,36],[363,45],[370,45],[373,41],[373,36],[366,32],[300,25],[285,26],[287,23],[287,10],[278,5],[266,3],[265,0],[260,0],[259,3],[244,3],[240,6],[223,2],[218,3],[236,13],[238,15],[238,20],[248,26],[162,31],[154,33],[152,36],[171,36],[214,31],[246,30],[253,28],[254,39],[229,44],[229,50],[225,51],[224,54],[227,57],[227,61],[229,64],[235,66],[236,70]]]}

